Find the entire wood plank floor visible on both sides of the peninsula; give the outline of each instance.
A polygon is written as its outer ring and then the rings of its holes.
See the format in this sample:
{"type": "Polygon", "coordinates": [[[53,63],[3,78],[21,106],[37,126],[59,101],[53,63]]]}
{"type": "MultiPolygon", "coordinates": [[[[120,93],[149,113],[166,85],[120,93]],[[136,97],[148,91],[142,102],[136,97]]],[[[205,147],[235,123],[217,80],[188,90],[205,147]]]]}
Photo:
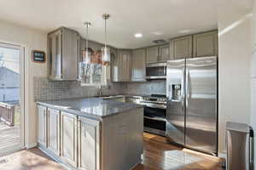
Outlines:
{"type": "MultiPolygon", "coordinates": [[[[0,158],[1,170],[62,170],[37,148],[20,150],[0,158]],[[1,163],[1,160],[3,162],[1,163]],[[6,162],[5,162],[6,161],[6,162]]],[[[192,150],[167,144],[166,139],[144,133],[143,162],[134,170],[221,170],[220,160],[192,150]]]]}

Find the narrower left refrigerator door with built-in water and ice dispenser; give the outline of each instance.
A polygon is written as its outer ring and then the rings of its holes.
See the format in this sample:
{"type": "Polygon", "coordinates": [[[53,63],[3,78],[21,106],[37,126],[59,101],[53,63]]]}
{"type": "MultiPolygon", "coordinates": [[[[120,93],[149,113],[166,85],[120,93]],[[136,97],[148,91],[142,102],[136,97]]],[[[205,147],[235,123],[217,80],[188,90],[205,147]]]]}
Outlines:
{"type": "Polygon", "coordinates": [[[166,71],[166,137],[169,141],[184,144],[184,76],[185,60],[167,61],[166,71]]]}

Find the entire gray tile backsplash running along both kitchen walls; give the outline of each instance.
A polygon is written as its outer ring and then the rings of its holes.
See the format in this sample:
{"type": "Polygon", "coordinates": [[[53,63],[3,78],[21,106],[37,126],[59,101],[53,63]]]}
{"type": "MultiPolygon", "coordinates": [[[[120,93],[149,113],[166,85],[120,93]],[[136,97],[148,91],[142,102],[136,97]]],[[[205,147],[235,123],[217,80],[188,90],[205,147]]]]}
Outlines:
{"type": "MultiPolygon", "coordinates": [[[[46,77],[34,77],[34,99],[73,99],[99,95],[99,88],[81,86],[78,81],[49,81],[46,77]]],[[[166,94],[166,81],[150,82],[108,82],[102,87],[102,95],[117,94],[166,94]]]]}

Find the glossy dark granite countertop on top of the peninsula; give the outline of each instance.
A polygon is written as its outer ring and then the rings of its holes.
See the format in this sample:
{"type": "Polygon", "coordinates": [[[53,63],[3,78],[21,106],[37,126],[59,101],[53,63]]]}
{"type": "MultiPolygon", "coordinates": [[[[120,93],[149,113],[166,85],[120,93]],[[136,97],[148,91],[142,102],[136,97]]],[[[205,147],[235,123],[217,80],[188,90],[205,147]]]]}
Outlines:
{"type": "Polygon", "coordinates": [[[48,106],[49,108],[67,111],[78,116],[85,116],[99,121],[107,116],[143,107],[143,105],[123,103],[102,98],[61,99],[38,101],[37,103],[39,105],[48,106]]]}

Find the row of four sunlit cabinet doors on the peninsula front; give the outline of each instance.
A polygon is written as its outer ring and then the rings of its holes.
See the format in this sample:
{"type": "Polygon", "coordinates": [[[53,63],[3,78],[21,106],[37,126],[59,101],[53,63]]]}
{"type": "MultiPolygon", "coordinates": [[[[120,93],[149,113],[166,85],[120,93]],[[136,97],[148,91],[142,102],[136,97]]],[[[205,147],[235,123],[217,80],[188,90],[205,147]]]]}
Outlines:
{"type": "Polygon", "coordinates": [[[101,122],[38,105],[38,144],[80,170],[101,169],[101,122]]]}

